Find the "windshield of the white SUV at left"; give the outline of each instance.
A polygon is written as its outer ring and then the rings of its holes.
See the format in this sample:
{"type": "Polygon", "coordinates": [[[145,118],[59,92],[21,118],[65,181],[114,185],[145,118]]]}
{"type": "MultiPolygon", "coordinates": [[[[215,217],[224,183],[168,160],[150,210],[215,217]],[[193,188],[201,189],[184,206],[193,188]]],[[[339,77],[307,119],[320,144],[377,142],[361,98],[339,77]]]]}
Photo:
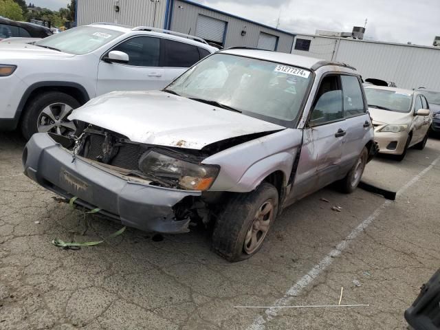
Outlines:
{"type": "Polygon", "coordinates": [[[94,26],[80,26],[48,36],[37,41],[34,45],[60,50],[69,54],[83,55],[97,50],[122,33],[94,26]]]}

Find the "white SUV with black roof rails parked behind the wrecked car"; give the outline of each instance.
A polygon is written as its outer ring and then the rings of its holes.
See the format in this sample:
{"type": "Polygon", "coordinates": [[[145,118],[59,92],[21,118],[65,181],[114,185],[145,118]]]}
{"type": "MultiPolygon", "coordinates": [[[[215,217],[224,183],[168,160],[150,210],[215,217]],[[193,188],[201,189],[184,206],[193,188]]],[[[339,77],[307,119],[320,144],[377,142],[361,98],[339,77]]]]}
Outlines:
{"type": "Polygon", "coordinates": [[[72,109],[115,90],[162,89],[217,51],[202,39],[96,23],[34,44],[0,44],[0,130],[72,135],[72,109]]]}

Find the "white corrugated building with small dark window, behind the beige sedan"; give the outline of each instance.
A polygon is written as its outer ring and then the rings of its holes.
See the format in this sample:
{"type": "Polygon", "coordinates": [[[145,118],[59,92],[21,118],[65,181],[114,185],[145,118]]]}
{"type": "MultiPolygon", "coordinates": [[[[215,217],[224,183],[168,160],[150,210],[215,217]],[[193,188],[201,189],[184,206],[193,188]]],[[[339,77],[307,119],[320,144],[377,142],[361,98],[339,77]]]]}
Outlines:
{"type": "Polygon", "coordinates": [[[440,91],[439,47],[296,34],[292,53],[347,63],[364,79],[378,78],[401,88],[440,91]]]}

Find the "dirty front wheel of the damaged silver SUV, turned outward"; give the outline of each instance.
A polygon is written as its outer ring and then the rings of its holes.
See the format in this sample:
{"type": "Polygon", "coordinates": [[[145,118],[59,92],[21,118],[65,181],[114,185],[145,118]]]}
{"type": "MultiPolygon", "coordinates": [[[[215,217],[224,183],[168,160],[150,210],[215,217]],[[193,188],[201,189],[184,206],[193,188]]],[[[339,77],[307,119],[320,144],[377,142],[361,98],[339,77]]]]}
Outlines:
{"type": "Polygon", "coordinates": [[[212,248],[231,262],[250,258],[263,246],[277,212],[278,190],[272,184],[234,195],[217,217],[212,248]]]}

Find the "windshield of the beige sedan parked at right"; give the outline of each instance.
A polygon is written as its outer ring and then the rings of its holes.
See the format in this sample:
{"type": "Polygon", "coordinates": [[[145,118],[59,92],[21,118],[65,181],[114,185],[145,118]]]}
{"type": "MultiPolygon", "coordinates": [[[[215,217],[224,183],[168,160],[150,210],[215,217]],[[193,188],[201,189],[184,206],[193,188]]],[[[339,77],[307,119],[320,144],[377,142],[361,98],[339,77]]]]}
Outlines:
{"type": "Polygon", "coordinates": [[[401,93],[399,91],[390,91],[386,89],[365,89],[366,100],[369,107],[378,107],[390,111],[408,113],[410,112],[412,95],[401,93]]]}

